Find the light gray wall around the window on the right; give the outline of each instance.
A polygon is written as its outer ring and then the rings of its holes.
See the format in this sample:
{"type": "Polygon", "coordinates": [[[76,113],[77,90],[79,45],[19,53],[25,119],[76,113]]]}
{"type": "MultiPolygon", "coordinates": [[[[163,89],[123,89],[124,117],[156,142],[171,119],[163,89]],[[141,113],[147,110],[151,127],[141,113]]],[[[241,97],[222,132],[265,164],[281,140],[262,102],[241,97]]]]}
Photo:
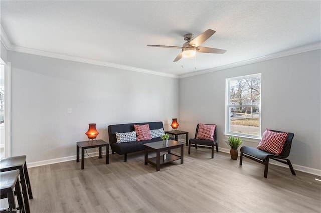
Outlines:
{"type": "MultiPolygon", "coordinates": [[[[295,134],[293,164],[321,170],[320,50],[180,79],[180,128],[194,137],[198,122],[218,126],[225,137],[225,79],[262,73],[262,132],[266,128],[295,134]]],[[[244,145],[256,147],[256,142],[244,145]]]]}

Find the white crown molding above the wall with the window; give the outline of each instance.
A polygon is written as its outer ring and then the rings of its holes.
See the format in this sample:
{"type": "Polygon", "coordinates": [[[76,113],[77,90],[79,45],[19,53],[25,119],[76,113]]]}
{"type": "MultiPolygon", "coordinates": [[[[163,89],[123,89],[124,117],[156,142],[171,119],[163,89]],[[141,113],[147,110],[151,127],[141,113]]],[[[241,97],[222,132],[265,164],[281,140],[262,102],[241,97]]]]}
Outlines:
{"type": "Polygon", "coordinates": [[[249,59],[249,60],[244,60],[244,61],[240,61],[240,62],[236,62],[236,63],[231,63],[231,64],[227,64],[227,65],[223,65],[223,66],[218,66],[218,67],[214,67],[214,68],[210,68],[210,69],[206,69],[206,70],[202,70],[202,71],[198,71],[198,72],[182,74],[182,75],[179,75],[179,78],[181,79],[181,78],[185,78],[185,77],[191,77],[191,76],[196,76],[196,75],[200,75],[200,74],[221,71],[224,69],[235,68],[238,66],[244,66],[244,65],[248,65],[248,64],[252,64],[252,63],[258,63],[258,62],[262,62],[262,61],[266,61],[266,60],[272,60],[272,59],[276,59],[276,58],[280,58],[280,57],[290,56],[290,55],[313,51],[313,50],[317,50],[317,49],[321,49],[321,43],[314,43],[311,45],[293,48],[293,49],[289,49],[286,51],[282,51],[282,52],[278,52],[278,53],[274,53],[274,54],[270,54],[270,55],[266,55],[266,56],[262,56],[262,57],[257,57],[257,58],[253,58],[253,59],[249,59]]]}

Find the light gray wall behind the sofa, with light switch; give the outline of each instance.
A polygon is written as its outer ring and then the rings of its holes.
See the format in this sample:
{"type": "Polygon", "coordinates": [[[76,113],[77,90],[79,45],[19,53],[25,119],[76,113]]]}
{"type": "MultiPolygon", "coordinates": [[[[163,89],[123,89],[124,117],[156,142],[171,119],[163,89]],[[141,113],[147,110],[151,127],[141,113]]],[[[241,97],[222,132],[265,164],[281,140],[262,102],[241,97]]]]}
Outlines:
{"type": "Polygon", "coordinates": [[[8,51],[11,62],[11,154],[28,162],[76,155],[76,142],[108,141],[110,124],[178,116],[178,79],[8,51]],[[72,108],[72,113],[67,113],[72,108]]]}

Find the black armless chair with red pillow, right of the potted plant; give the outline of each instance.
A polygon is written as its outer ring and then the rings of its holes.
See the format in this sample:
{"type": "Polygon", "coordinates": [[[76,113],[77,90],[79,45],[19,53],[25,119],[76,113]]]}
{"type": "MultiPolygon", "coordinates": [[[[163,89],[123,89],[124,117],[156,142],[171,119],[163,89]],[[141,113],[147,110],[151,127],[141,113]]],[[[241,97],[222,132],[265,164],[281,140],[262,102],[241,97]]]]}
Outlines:
{"type": "Polygon", "coordinates": [[[242,165],[243,156],[261,163],[265,166],[264,177],[267,178],[269,159],[273,159],[287,164],[290,167],[292,174],[296,175],[291,161],[286,159],[291,151],[293,137],[293,133],[266,129],[262,136],[262,141],[257,148],[247,146],[241,147],[240,165],[242,165]],[[285,137],[284,133],[286,133],[285,137]],[[283,138],[284,141],[282,141],[283,138]]]}

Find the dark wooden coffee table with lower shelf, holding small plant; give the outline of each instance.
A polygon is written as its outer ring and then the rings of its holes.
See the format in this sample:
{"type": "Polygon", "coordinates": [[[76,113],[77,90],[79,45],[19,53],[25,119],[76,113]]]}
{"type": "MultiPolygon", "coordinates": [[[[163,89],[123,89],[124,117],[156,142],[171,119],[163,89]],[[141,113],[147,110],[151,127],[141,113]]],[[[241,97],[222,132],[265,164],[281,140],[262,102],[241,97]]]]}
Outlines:
{"type": "Polygon", "coordinates": [[[167,145],[163,145],[163,141],[152,142],[143,144],[145,146],[145,165],[148,163],[156,166],[156,171],[161,170],[161,165],[172,162],[174,160],[181,159],[183,164],[183,146],[185,143],[175,140],[169,140],[167,145]],[[175,148],[181,148],[181,156],[172,154],[171,150],[175,148]],[[148,158],[148,151],[155,151],[156,157],[148,158]],[[167,151],[167,154],[161,156],[162,151],[167,151]]]}

